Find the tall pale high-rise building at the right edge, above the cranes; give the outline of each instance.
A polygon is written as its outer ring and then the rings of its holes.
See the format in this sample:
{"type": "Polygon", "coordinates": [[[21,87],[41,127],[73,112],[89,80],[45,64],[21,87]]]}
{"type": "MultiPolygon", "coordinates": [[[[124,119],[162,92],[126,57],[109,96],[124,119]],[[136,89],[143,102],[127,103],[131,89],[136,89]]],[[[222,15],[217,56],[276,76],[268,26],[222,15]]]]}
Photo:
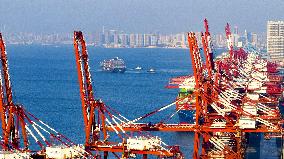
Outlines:
{"type": "Polygon", "coordinates": [[[284,21],[267,22],[267,53],[272,60],[284,62],[284,21]]]}

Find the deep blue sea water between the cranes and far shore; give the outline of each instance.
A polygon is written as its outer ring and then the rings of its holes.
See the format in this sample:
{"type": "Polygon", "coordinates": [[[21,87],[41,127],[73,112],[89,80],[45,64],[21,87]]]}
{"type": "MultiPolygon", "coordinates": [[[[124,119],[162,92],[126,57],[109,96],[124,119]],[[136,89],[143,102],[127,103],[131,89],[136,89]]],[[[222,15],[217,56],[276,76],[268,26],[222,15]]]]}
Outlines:
{"type": "MultiPolygon", "coordinates": [[[[221,51],[217,50],[218,53],[221,51]]],[[[29,112],[74,142],[84,143],[73,45],[8,45],[7,52],[14,101],[23,104],[29,112]]],[[[169,79],[192,73],[186,49],[105,49],[90,46],[88,53],[95,97],[101,98],[128,119],[174,102],[178,90],[165,88],[169,79]],[[127,71],[124,74],[102,72],[99,62],[116,56],[125,60],[127,71]],[[134,70],[137,66],[143,70],[134,70]],[[148,73],[146,70],[150,68],[156,72],[148,73]]],[[[174,112],[175,107],[171,107],[141,122],[159,122],[174,112]]],[[[168,123],[178,123],[178,116],[175,115],[168,123]]],[[[180,145],[186,158],[191,158],[192,133],[151,134],[161,136],[169,145],[180,145]]],[[[274,145],[275,140],[261,140],[261,151],[256,148],[255,151],[259,152],[257,157],[249,158],[276,158],[274,145]]]]}

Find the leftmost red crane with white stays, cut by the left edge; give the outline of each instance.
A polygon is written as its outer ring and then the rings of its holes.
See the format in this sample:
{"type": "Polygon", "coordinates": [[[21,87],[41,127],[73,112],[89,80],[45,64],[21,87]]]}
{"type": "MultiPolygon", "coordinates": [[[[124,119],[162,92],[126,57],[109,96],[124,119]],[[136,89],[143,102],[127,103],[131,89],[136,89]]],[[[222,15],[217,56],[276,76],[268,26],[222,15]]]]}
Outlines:
{"type": "Polygon", "coordinates": [[[78,158],[90,156],[81,146],[13,101],[5,43],[0,33],[0,158],[78,158]],[[34,142],[33,142],[34,141],[34,142]],[[31,146],[39,148],[30,149],[31,146]],[[36,153],[37,152],[37,153],[36,153]],[[60,153],[59,153],[60,152],[60,153]]]}

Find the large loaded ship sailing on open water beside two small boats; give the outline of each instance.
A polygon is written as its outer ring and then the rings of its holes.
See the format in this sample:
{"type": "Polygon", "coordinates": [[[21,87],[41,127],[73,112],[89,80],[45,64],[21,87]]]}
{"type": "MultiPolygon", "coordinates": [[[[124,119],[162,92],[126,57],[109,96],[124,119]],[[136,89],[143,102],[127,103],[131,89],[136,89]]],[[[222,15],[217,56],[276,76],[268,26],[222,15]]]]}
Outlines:
{"type": "Polygon", "coordinates": [[[104,60],[100,63],[103,71],[124,73],[126,71],[126,65],[123,59],[115,57],[113,59],[104,60]]]}

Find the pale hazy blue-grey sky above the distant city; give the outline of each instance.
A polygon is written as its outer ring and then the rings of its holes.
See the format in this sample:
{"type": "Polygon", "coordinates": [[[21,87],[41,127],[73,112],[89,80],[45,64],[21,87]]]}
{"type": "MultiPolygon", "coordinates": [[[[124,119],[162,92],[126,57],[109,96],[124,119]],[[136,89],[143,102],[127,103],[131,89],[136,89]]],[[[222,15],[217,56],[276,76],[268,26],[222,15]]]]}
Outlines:
{"type": "Polygon", "coordinates": [[[264,32],[267,20],[284,20],[284,0],[0,0],[0,27],[9,32],[176,33],[200,31],[205,17],[212,32],[226,22],[264,32]]]}

